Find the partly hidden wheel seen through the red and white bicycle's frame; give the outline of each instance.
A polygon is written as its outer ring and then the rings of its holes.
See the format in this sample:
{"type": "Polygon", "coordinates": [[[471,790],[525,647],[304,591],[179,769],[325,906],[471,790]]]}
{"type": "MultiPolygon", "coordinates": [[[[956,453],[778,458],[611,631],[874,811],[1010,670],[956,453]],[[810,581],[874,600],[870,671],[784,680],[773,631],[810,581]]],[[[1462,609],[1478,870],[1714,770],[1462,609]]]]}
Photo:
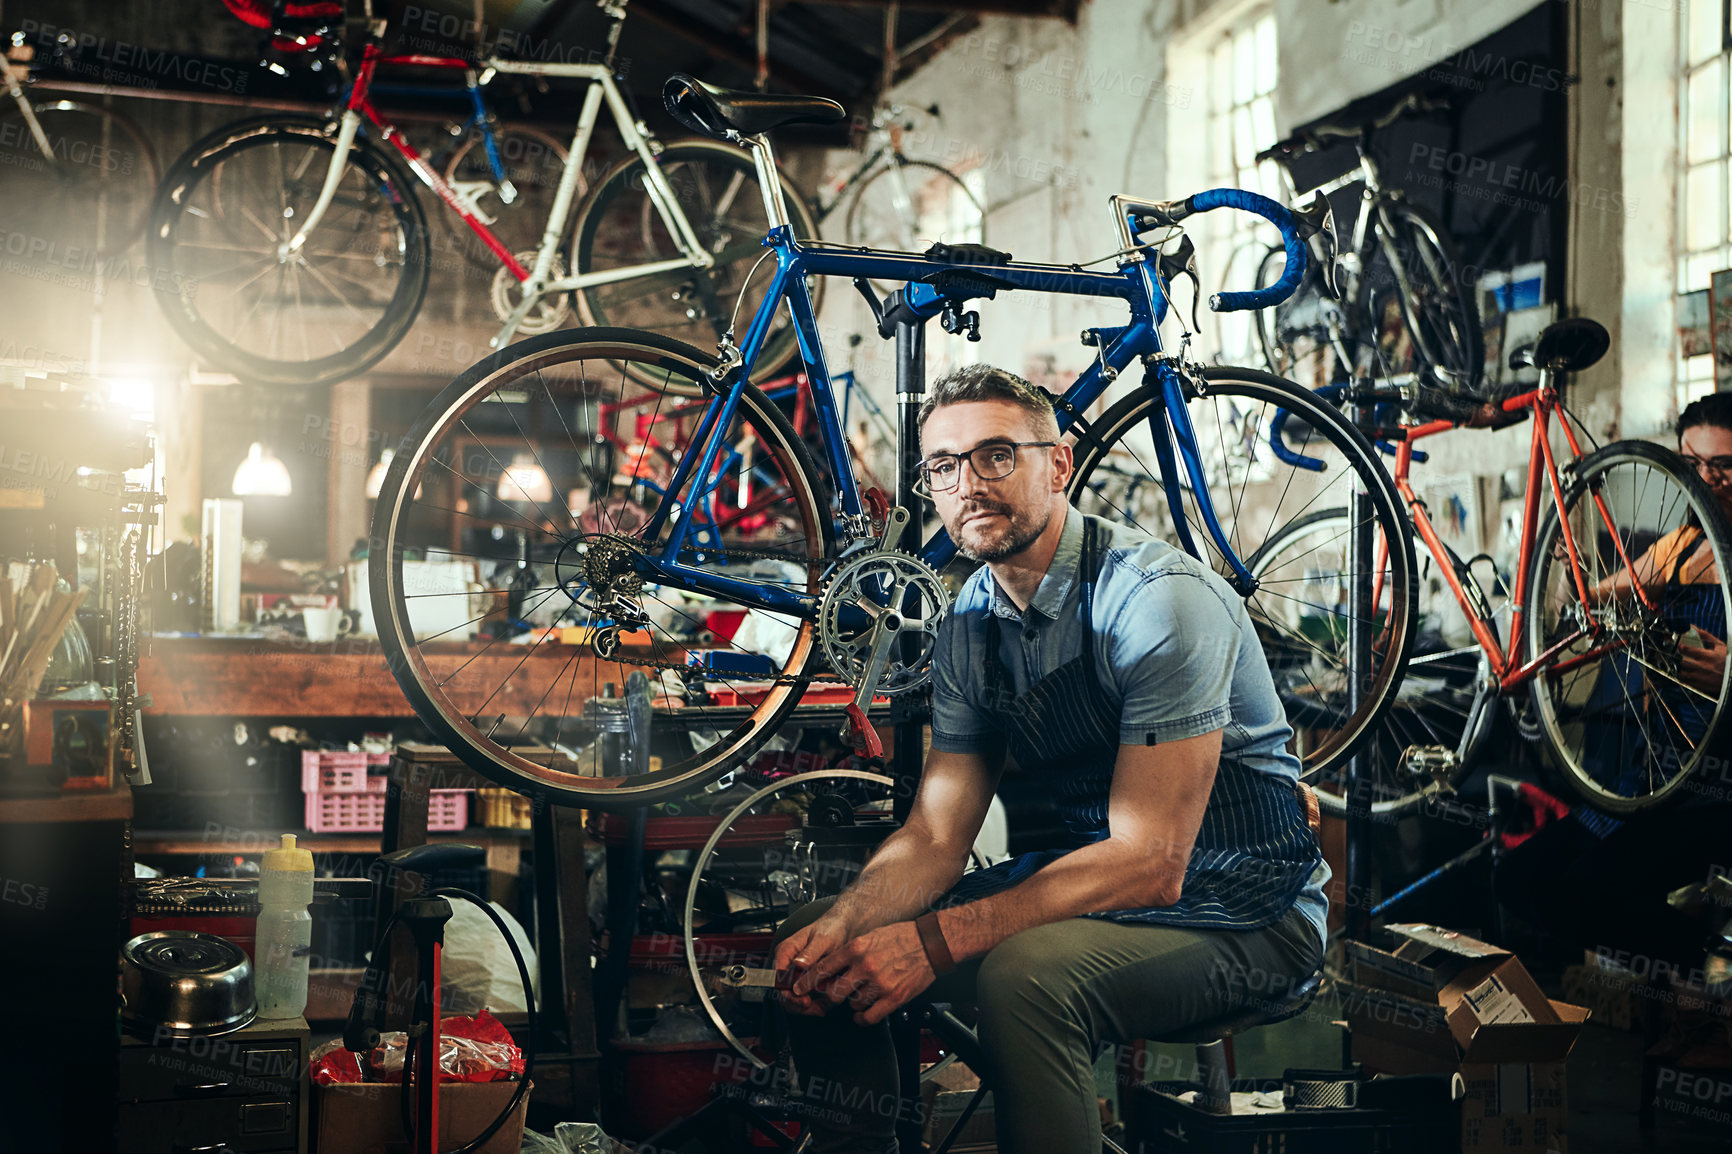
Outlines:
{"type": "MultiPolygon", "coordinates": [[[[513,255],[533,253],[540,248],[547,215],[553,211],[553,199],[559,189],[559,173],[566,158],[565,144],[551,132],[533,125],[499,125],[495,128],[494,146],[506,168],[506,180],[516,189],[516,198],[506,204],[501,199],[499,185],[494,184],[494,168],[487,159],[481,133],[471,130],[445,161],[445,182],[485,180],[494,185],[481,194],[483,199],[478,203],[478,208],[494,218],[488,229],[513,255]]],[[[572,203],[580,204],[585,191],[587,184],[578,173],[572,203]]],[[[450,229],[454,248],[466,262],[488,276],[499,270],[499,256],[461,218],[454,217],[450,229]]]]}

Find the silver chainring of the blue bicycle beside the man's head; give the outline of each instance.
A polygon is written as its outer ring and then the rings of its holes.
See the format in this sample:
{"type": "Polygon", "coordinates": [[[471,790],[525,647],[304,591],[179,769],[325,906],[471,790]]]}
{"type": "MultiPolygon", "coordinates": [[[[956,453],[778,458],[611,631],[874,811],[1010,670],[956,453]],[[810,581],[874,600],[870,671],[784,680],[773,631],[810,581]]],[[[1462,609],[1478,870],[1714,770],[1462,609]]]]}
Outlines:
{"type": "Polygon", "coordinates": [[[873,677],[875,693],[906,693],[932,677],[932,650],[949,606],[930,565],[880,549],[845,561],[830,579],[818,606],[818,634],[843,681],[857,688],[873,677]],[[895,634],[887,648],[878,645],[880,622],[895,634]]]}

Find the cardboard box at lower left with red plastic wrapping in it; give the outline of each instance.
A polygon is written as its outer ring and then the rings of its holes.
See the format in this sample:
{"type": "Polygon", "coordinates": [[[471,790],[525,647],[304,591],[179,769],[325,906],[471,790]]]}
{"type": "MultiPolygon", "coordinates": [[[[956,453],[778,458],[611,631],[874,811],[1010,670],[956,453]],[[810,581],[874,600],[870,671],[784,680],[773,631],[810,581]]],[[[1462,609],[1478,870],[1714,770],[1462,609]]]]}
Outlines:
{"type": "MultiPolygon", "coordinates": [[[[339,1083],[313,1086],[312,1154],[404,1154],[409,1137],[402,1123],[402,1092],[395,1083],[339,1083]]],[[[438,1088],[440,1151],[456,1151],[476,1138],[511,1095],[514,1081],[445,1081],[438,1088]]],[[[523,1149],[523,1112],[535,1085],[523,1093],[518,1109],[494,1131],[480,1154],[518,1154],[523,1149]]]]}

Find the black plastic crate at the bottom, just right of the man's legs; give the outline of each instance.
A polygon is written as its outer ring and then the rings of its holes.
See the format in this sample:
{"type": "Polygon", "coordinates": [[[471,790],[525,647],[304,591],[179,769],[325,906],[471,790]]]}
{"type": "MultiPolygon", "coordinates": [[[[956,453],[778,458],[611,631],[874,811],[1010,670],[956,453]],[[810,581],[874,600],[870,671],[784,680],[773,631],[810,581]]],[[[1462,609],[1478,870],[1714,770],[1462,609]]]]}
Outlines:
{"type": "MultiPolygon", "coordinates": [[[[1235,1090],[1280,1090],[1280,1081],[1235,1081],[1235,1090]]],[[[1458,1154],[1460,1121],[1380,1109],[1211,1114],[1179,1102],[1197,1083],[1134,1086],[1126,1137],[1138,1154],[1458,1154]]]]}

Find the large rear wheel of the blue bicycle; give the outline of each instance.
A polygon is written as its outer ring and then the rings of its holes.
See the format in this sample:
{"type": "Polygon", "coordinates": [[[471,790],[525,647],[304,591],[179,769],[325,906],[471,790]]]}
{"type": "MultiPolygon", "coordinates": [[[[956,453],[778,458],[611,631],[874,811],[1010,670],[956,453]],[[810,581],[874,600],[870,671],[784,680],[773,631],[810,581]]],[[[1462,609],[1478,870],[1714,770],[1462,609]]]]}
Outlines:
{"type": "MultiPolygon", "coordinates": [[[[821,648],[814,620],[772,613],[760,613],[757,619],[757,631],[766,638],[762,641],[746,641],[743,627],[731,639],[712,641],[717,648],[731,650],[733,657],[750,658],[764,667],[762,679],[778,681],[753,693],[745,683],[757,683],[759,676],[710,676],[738,691],[745,703],[729,712],[726,707],[688,702],[681,716],[701,731],[688,726],[686,740],[693,747],[689,757],[674,757],[681,750],[663,747],[663,761],[670,764],[660,769],[643,775],[610,773],[617,766],[594,764],[592,775],[587,768],[584,773],[572,773],[556,768],[551,757],[540,764],[513,750],[532,743],[547,749],[573,745],[577,733],[594,731],[604,721],[606,707],[585,702],[606,700],[606,683],[624,684],[646,660],[660,660],[660,653],[677,653],[682,662],[693,638],[701,636],[715,620],[707,608],[674,600],[670,589],[643,586],[634,594],[630,582],[615,584],[603,572],[610,565],[598,549],[603,542],[613,549],[613,561],[627,558],[611,574],[630,568],[629,553],[636,548],[667,542],[667,527],[655,542],[644,537],[650,511],[660,499],[667,499],[656,490],[656,478],[646,477],[636,464],[630,475],[620,477],[611,445],[598,437],[585,409],[601,392],[643,388],[618,367],[622,360],[634,359],[643,366],[656,366],[662,373],[682,374],[689,381],[696,381],[715,364],[707,353],[655,333],[566,329],[525,338],[468,369],[428,405],[404,437],[379,492],[369,549],[369,586],[379,641],[397,683],[435,738],[464,764],[501,785],[549,795],[563,804],[603,809],[681,797],[740,766],[798,703],[805,690],[798,677],[809,665],[816,665],[821,648]],[[539,487],[533,477],[525,480],[532,464],[542,470],[546,494],[532,489],[539,487]],[[566,494],[568,483],[587,485],[589,496],[582,504],[575,494],[563,501],[553,499],[553,492],[566,494]],[[589,558],[591,549],[598,551],[598,558],[589,558]],[[426,577],[405,570],[405,561],[414,556],[492,565],[494,584],[504,587],[483,587],[487,603],[480,615],[469,601],[445,601],[442,606],[436,596],[471,594],[417,594],[410,584],[426,577]],[[594,565],[603,570],[592,568],[594,565]],[[572,638],[575,645],[568,646],[565,664],[553,674],[553,681],[546,681],[547,671],[532,667],[528,658],[537,648],[549,645],[547,638],[539,638],[530,648],[509,645],[511,636],[520,636],[532,626],[570,624],[596,631],[620,622],[622,610],[604,605],[610,593],[625,593],[653,606],[648,620],[627,620],[650,634],[643,652],[622,648],[613,655],[601,655],[596,652],[594,632],[589,638],[577,636],[572,638]],[[518,598],[516,606],[513,594],[518,598]],[[656,612],[662,613],[660,624],[653,615],[656,612]],[[492,634],[480,652],[471,653],[473,645],[449,652],[440,641],[450,634],[466,638],[476,626],[492,634]],[[488,672],[488,662],[481,658],[494,653],[502,638],[506,652],[516,650],[521,658],[516,665],[507,660],[488,672]],[[786,646],[785,652],[778,652],[781,646],[786,646]],[[589,717],[587,726],[584,717],[589,717]]],[[[722,572],[729,565],[731,549],[752,546],[776,556],[752,560],[746,570],[727,575],[816,594],[823,568],[833,560],[833,530],[828,499],[811,482],[805,447],[776,405],[750,385],[743,386],[736,423],[715,435],[724,445],[736,445],[745,440],[745,433],[755,438],[753,468],[776,468],[783,473],[788,497],[778,506],[781,520],[767,528],[759,527],[759,541],[712,539],[688,546],[689,563],[722,572]],[[778,548],[766,549],[766,544],[778,548]]],[[[714,480],[708,483],[714,485],[714,480]]],[[[695,506],[707,499],[696,487],[674,497],[695,506]]],[[[724,596],[710,601],[722,608],[738,605],[724,596]]]]}

